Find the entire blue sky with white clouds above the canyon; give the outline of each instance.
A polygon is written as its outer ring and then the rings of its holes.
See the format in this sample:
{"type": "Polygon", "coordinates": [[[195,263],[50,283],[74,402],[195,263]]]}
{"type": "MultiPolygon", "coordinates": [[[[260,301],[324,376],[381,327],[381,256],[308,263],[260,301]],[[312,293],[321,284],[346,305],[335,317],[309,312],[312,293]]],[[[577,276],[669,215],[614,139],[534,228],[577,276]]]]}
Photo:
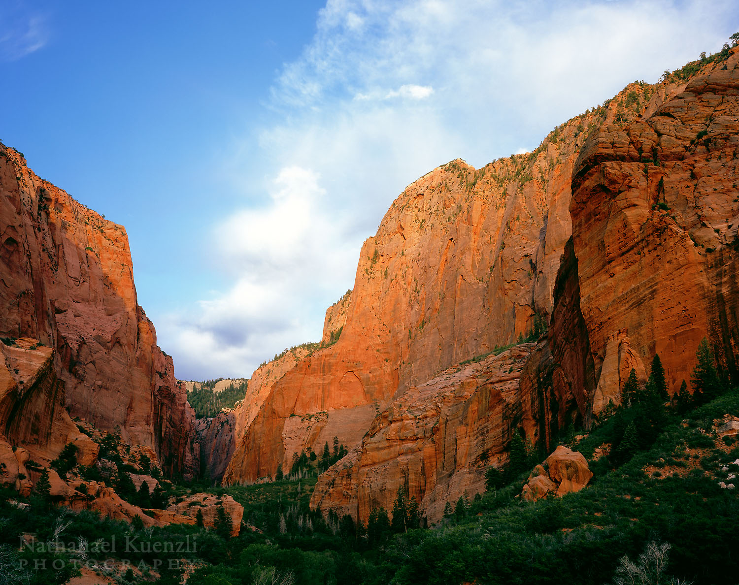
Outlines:
{"type": "Polygon", "coordinates": [[[178,376],[248,377],[320,338],[407,184],[737,30],[729,0],[4,0],[0,138],[126,226],[178,376]]]}

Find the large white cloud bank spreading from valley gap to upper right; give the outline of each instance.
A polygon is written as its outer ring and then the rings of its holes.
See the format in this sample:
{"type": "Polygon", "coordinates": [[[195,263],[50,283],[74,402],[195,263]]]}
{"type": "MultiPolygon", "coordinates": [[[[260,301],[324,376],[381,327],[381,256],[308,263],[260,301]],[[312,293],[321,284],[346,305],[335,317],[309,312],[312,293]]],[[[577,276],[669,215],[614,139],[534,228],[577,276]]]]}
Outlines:
{"type": "Polygon", "coordinates": [[[626,83],[720,49],[736,16],[729,0],[329,0],[276,78],[259,155],[239,155],[251,136],[233,145],[228,170],[251,205],[217,227],[213,256],[234,284],[169,316],[160,338],[183,347],[178,372],[196,360],[211,364],[200,377],[248,375],[318,339],[405,185],[455,157],[480,166],[537,145],[626,83]]]}

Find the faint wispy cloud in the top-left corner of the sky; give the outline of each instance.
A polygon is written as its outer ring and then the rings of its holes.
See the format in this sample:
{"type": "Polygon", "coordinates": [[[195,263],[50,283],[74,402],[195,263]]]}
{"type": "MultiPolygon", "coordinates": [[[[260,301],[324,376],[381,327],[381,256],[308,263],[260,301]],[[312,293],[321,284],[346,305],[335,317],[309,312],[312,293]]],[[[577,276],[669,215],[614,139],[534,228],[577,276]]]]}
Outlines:
{"type": "Polygon", "coordinates": [[[49,40],[47,17],[20,4],[0,7],[0,60],[17,61],[43,48],[49,40]]]}

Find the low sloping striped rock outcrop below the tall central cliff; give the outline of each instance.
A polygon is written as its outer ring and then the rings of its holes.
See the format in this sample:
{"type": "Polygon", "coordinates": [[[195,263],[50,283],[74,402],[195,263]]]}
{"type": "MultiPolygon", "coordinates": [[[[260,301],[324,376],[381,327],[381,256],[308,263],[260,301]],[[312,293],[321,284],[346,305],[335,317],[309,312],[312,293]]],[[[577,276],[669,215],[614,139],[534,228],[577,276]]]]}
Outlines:
{"type": "Polygon", "coordinates": [[[500,462],[521,420],[519,377],[534,343],[454,366],[411,386],[375,417],[361,446],[319,477],[312,507],[367,522],[392,510],[398,487],[429,521],[446,502],[485,489],[487,465],[500,462]]]}

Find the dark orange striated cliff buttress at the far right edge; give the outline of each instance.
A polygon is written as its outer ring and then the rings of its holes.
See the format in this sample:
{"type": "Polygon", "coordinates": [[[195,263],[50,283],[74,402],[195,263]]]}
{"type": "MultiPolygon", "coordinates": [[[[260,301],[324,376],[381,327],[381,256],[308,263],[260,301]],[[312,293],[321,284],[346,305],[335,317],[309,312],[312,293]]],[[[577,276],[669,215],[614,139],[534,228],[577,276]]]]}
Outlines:
{"type": "Polygon", "coordinates": [[[604,127],[576,164],[574,253],[603,397],[624,360],[643,372],[655,352],[674,393],[706,335],[737,374],[738,61],[734,49],[647,117],[604,127]]]}

